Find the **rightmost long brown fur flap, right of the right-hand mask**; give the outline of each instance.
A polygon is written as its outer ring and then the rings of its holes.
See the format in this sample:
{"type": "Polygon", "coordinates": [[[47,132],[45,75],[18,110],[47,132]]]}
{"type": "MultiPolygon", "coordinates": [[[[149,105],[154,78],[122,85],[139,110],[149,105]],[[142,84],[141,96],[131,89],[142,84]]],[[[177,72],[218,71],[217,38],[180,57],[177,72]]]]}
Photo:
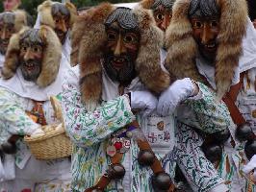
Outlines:
{"type": "Polygon", "coordinates": [[[246,32],[247,4],[245,0],[218,0],[221,8],[220,31],[216,64],[218,98],[229,90],[242,54],[242,40],[246,32]]]}

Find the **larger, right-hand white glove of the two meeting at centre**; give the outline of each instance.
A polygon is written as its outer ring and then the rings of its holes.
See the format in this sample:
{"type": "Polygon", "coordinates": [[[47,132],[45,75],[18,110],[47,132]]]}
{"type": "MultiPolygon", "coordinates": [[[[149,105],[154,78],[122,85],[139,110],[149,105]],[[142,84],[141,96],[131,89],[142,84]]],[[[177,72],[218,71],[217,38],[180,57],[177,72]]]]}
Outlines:
{"type": "Polygon", "coordinates": [[[197,93],[198,87],[190,78],[177,80],[161,94],[157,112],[163,116],[170,115],[181,102],[197,93]]]}

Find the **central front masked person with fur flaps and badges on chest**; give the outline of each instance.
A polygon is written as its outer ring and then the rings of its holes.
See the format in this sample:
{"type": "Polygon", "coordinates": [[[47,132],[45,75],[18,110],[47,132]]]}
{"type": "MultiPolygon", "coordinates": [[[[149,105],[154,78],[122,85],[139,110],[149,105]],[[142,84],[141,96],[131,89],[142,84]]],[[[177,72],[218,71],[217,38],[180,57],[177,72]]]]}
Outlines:
{"type": "MultiPolygon", "coordinates": [[[[79,63],[80,77],[64,84],[62,100],[74,143],[73,191],[172,191],[174,117],[156,113],[154,95],[171,89],[161,67],[163,37],[143,9],[101,4],[78,16],[71,60],[79,63]]],[[[227,108],[216,105],[206,86],[190,79],[174,84],[188,104],[204,101],[205,108],[191,109],[205,114],[200,119],[206,126],[229,126],[227,108]]]]}

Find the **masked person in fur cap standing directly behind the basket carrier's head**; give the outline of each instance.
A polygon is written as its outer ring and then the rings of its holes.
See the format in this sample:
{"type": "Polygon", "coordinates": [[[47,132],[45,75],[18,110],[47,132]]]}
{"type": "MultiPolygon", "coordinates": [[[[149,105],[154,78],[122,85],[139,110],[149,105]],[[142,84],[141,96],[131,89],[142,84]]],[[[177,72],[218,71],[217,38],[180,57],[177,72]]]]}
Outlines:
{"type": "Polygon", "coordinates": [[[70,3],[44,1],[38,6],[38,18],[34,28],[40,25],[50,26],[60,38],[63,44],[63,55],[70,62],[70,39],[69,31],[75,21],[77,11],[75,6],[70,3]]]}

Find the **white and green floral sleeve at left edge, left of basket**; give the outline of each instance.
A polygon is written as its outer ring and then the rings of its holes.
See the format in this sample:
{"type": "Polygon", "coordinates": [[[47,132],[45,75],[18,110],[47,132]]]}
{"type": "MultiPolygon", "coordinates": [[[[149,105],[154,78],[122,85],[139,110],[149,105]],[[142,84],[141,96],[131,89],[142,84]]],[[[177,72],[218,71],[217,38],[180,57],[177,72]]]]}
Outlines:
{"type": "Polygon", "coordinates": [[[0,87],[0,144],[12,134],[31,134],[39,125],[35,123],[15,99],[16,95],[0,87]]]}

